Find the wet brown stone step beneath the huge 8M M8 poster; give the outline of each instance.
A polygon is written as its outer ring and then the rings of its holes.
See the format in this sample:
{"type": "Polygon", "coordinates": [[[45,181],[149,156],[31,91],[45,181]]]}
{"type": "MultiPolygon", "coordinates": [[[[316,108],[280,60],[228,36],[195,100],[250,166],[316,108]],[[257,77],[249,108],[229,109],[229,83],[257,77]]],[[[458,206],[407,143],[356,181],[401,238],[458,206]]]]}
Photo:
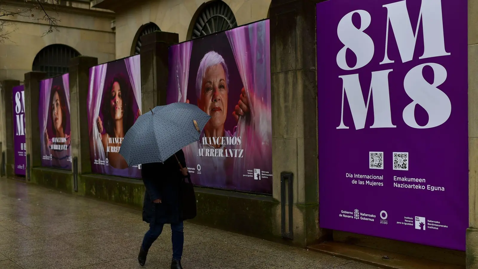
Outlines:
{"type": "Polygon", "coordinates": [[[415,258],[394,252],[339,242],[322,243],[311,246],[309,249],[387,269],[465,269],[464,265],[446,264],[424,258],[415,258]]]}

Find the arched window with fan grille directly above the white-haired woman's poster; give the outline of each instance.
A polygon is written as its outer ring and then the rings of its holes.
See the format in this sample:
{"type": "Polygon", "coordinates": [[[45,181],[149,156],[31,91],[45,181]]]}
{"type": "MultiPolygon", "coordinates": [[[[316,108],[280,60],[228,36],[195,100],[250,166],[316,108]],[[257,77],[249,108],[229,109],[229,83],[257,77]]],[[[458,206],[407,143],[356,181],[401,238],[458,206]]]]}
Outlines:
{"type": "Polygon", "coordinates": [[[207,3],[194,23],[191,38],[221,32],[238,26],[234,13],[228,4],[221,0],[207,3]]]}

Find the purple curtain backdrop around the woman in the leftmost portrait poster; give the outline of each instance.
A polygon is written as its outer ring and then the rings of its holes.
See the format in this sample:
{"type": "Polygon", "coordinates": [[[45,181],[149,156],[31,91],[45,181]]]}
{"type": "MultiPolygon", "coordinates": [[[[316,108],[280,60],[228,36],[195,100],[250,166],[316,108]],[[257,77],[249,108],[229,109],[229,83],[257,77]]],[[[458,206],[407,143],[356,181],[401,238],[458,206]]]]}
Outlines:
{"type": "MultiPolygon", "coordinates": [[[[60,87],[60,89],[63,89],[65,90],[65,117],[62,119],[63,121],[65,121],[65,130],[64,130],[64,133],[66,135],[71,135],[71,125],[70,125],[70,110],[69,110],[69,102],[70,102],[70,99],[69,99],[69,91],[70,89],[65,89],[65,86],[63,84],[63,77],[66,76],[68,77],[68,74],[64,74],[64,75],[60,75],[60,76],[56,76],[54,78],[47,78],[45,79],[46,80],[51,80],[50,83],[51,84],[51,87],[50,89],[45,89],[44,86],[45,84],[44,83],[40,83],[40,103],[39,103],[39,106],[38,106],[38,117],[39,117],[39,121],[40,121],[40,130],[42,130],[44,127],[44,125],[42,126],[42,117],[43,117],[43,114],[45,113],[44,111],[44,108],[43,108],[43,104],[44,102],[47,102],[48,103],[48,111],[47,111],[47,120],[46,120],[46,132],[48,134],[48,138],[49,140],[51,141],[52,140],[52,137],[55,136],[55,134],[53,133],[53,130],[52,130],[52,106],[51,106],[51,94],[52,94],[52,89],[55,87],[55,86],[58,86],[60,87]],[[45,94],[43,94],[43,92],[45,92],[45,94]],[[66,94],[66,91],[68,91],[68,94],[66,94]],[[46,99],[45,99],[46,98],[46,99]]],[[[61,98],[61,97],[60,97],[61,98]]],[[[43,135],[42,133],[40,133],[40,143],[43,145],[44,144],[44,140],[43,140],[43,135]]],[[[43,145],[42,146],[43,148],[47,148],[48,146],[47,145],[43,145]]],[[[67,153],[67,156],[70,156],[71,155],[71,144],[70,146],[68,147],[67,149],[68,153],[67,153]]],[[[49,150],[48,152],[45,152],[44,154],[45,155],[50,155],[50,152],[53,152],[52,150],[49,150]]],[[[43,155],[43,153],[42,153],[43,155]]],[[[71,156],[70,156],[71,157],[71,156]]],[[[50,160],[44,160],[43,159],[43,156],[42,156],[42,166],[44,167],[55,167],[55,168],[64,168],[64,169],[71,169],[71,161],[68,160],[67,157],[65,157],[64,159],[62,159],[60,162],[59,162],[59,165],[55,165],[54,162],[50,161],[50,160]]]]}

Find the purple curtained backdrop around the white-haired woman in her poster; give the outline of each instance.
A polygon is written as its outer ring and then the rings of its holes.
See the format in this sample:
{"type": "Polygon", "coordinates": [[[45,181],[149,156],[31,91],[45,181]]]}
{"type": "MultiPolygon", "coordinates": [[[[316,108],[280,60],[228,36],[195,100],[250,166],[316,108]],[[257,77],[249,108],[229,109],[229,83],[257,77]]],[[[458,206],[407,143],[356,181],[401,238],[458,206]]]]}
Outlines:
{"type": "Polygon", "coordinates": [[[251,105],[255,110],[255,116],[252,116],[253,123],[246,127],[247,131],[242,137],[245,148],[243,158],[224,157],[225,162],[214,167],[216,163],[209,157],[197,156],[196,143],[186,146],[184,150],[188,168],[196,170],[197,165],[201,166],[201,174],[193,171],[191,180],[198,186],[272,194],[269,21],[254,22],[226,32],[170,46],[167,103],[178,101],[180,87],[187,81],[185,96],[191,104],[197,105],[197,71],[200,61],[209,51],[215,51],[221,55],[228,67],[228,112],[224,124],[225,131],[230,131],[234,135],[234,128],[238,125],[232,113],[235,111],[244,87],[238,67],[238,62],[240,63],[241,60],[246,62],[244,75],[250,83],[249,91],[257,98],[251,105]],[[236,56],[233,52],[234,46],[238,52],[236,56]],[[189,67],[186,68],[188,64],[189,67]],[[252,125],[254,123],[261,124],[252,125]],[[261,180],[244,177],[244,174],[248,173],[247,170],[253,169],[261,170],[261,180]],[[269,176],[264,176],[265,171],[269,176]]]}

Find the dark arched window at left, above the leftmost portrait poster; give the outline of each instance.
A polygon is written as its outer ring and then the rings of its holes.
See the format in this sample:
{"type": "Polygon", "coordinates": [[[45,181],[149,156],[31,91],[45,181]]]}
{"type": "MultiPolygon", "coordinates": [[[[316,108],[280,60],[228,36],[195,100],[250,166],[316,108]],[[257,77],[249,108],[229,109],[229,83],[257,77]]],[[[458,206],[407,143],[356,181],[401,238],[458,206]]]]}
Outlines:
{"type": "Polygon", "coordinates": [[[62,44],[53,44],[44,47],[33,60],[33,71],[42,71],[47,77],[68,73],[70,59],[80,54],[72,47],[62,44]]]}

